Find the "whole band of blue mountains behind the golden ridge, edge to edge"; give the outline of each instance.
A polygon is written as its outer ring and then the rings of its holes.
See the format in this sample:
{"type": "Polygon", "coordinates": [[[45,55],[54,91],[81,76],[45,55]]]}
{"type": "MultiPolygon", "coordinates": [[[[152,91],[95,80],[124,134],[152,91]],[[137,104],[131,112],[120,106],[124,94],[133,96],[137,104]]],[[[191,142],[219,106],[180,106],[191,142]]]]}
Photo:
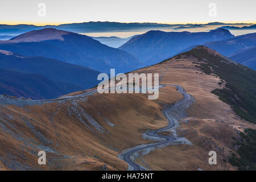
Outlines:
{"type": "Polygon", "coordinates": [[[122,39],[90,38],[44,28],[0,41],[0,69],[5,73],[0,80],[0,94],[56,98],[92,88],[98,83],[98,74],[108,73],[110,68],[119,73],[133,71],[199,45],[256,69],[256,33],[234,36],[223,28],[209,32],[148,31],[122,39]],[[119,48],[109,47],[122,42],[119,48]]]}

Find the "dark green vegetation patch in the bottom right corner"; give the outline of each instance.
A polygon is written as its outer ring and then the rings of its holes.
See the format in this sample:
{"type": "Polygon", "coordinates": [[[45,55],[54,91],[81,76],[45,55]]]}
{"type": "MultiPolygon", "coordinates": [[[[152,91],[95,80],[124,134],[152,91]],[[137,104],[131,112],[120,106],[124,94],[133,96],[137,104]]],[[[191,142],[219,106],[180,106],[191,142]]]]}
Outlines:
{"type": "Polygon", "coordinates": [[[245,129],[245,133],[240,133],[241,141],[236,144],[239,147],[238,154],[234,153],[229,158],[229,163],[237,166],[240,170],[256,170],[256,130],[245,129]]]}

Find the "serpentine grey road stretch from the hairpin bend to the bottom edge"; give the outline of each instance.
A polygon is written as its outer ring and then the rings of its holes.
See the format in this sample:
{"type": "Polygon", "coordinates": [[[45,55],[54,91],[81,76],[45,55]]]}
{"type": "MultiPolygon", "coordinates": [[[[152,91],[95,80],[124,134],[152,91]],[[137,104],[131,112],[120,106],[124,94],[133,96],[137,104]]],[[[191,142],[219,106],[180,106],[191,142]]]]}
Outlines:
{"type": "MultiPolygon", "coordinates": [[[[130,150],[126,151],[125,154],[122,154],[123,160],[125,160],[125,162],[127,162],[129,164],[129,169],[132,169],[134,171],[141,170],[141,167],[139,166],[139,164],[135,163],[131,159],[131,155],[134,154],[135,152],[138,152],[138,151],[143,150],[145,148],[160,146],[160,145],[163,145],[163,144],[166,144],[166,143],[169,143],[169,142],[173,142],[174,140],[176,140],[176,137],[164,136],[164,135],[160,135],[158,133],[162,132],[162,131],[165,131],[165,130],[172,129],[175,126],[175,121],[183,118],[182,117],[182,116],[184,116],[183,113],[178,114],[179,117],[177,118],[177,117],[174,117],[174,115],[171,114],[171,111],[174,110],[174,109],[177,109],[179,111],[179,109],[177,107],[183,107],[183,109],[188,107],[189,105],[192,104],[193,97],[191,97],[187,92],[185,92],[185,89],[183,87],[179,86],[179,85],[174,85],[174,84],[167,84],[167,85],[176,86],[177,91],[180,92],[181,94],[183,94],[183,98],[181,100],[175,102],[174,105],[167,104],[166,106],[163,107],[164,115],[166,115],[166,118],[168,119],[168,126],[160,128],[158,130],[148,131],[146,133],[147,136],[163,139],[164,141],[156,142],[156,143],[150,143],[150,144],[141,144],[141,145],[138,145],[138,146],[134,146],[130,150]]],[[[167,86],[167,85],[163,85],[163,86],[167,86]]]]}

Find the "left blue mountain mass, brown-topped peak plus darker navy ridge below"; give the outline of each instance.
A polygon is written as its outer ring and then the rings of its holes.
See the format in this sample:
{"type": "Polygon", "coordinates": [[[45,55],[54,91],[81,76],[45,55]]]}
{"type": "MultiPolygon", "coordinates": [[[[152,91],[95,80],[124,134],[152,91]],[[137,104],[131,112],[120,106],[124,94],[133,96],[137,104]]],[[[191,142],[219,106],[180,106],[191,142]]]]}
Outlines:
{"type": "Polygon", "coordinates": [[[88,36],[44,28],[0,41],[0,94],[56,98],[96,86],[99,71],[127,72],[139,65],[130,53],[88,36]]]}

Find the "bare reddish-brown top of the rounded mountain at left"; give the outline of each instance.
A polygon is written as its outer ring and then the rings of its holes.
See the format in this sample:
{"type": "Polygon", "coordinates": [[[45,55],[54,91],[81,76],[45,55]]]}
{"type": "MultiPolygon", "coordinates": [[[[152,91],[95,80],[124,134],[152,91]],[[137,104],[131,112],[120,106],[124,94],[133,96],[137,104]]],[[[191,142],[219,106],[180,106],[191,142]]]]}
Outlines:
{"type": "Polygon", "coordinates": [[[63,35],[72,34],[72,32],[57,30],[55,28],[44,28],[26,32],[11,39],[12,42],[40,42],[44,40],[64,40],[63,35]]]}

